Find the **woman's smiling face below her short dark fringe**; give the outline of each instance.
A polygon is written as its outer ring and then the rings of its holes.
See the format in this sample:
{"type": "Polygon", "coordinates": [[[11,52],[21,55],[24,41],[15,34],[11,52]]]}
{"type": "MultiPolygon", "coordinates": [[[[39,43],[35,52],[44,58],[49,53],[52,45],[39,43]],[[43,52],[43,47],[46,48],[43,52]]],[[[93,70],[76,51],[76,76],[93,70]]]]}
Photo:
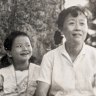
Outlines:
{"type": "Polygon", "coordinates": [[[66,37],[66,42],[75,44],[84,43],[88,31],[87,18],[80,12],[78,12],[77,17],[69,14],[65,18],[62,31],[66,37]]]}

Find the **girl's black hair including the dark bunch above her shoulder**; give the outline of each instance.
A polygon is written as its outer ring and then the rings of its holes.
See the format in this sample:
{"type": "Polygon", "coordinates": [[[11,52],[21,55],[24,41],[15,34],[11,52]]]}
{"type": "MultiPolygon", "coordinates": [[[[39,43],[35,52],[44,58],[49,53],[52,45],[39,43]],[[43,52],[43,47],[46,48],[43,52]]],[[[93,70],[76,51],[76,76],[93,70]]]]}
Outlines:
{"type": "MultiPolygon", "coordinates": [[[[29,38],[29,36],[24,32],[21,31],[11,32],[4,41],[4,49],[6,51],[11,51],[13,42],[18,36],[27,36],[29,38]]],[[[12,64],[12,58],[8,57],[7,54],[5,54],[0,60],[0,68],[8,67],[11,64],[12,64]]]]}

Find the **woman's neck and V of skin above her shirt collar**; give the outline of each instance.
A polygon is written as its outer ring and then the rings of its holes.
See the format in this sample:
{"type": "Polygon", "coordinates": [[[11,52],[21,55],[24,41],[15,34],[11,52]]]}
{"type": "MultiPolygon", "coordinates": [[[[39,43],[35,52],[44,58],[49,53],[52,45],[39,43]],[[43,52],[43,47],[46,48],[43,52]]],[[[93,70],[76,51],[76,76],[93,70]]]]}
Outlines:
{"type": "Polygon", "coordinates": [[[79,55],[80,51],[82,50],[83,44],[70,44],[70,43],[65,43],[65,48],[71,57],[72,61],[74,61],[77,56],[79,55]]]}

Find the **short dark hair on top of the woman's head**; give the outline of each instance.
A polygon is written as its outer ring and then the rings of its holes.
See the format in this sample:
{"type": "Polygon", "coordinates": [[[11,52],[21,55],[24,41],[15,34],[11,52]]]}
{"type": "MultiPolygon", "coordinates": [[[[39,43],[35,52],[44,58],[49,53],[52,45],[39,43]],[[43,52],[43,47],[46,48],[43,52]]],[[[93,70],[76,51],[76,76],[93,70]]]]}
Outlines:
{"type": "Polygon", "coordinates": [[[71,7],[67,8],[67,9],[63,9],[60,12],[60,14],[58,16],[58,20],[56,22],[57,25],[58,25],[58,28],[60,30],[62,30],[65,18],[69,14],[71,14],[73,17],[77,17],[78,16],[78,12],[83,13],[86,16],[88,21],[92,19],[92,14],[91,14],[91,12],[89,11],[88,8],[85,8],[85,7],[82,7],[82,6],[71,6],[71,7]]]}

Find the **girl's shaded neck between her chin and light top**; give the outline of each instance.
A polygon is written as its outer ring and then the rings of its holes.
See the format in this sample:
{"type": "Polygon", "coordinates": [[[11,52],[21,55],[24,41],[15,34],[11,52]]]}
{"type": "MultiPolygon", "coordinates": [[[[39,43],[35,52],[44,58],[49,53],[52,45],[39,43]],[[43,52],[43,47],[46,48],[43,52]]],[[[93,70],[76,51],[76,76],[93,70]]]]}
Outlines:
{"type": "Polygon", "coordinates": [[[28,70],[29,69],[29,61],[26,62],[14,62],[14,68],[15,70],[28,70]]]}

